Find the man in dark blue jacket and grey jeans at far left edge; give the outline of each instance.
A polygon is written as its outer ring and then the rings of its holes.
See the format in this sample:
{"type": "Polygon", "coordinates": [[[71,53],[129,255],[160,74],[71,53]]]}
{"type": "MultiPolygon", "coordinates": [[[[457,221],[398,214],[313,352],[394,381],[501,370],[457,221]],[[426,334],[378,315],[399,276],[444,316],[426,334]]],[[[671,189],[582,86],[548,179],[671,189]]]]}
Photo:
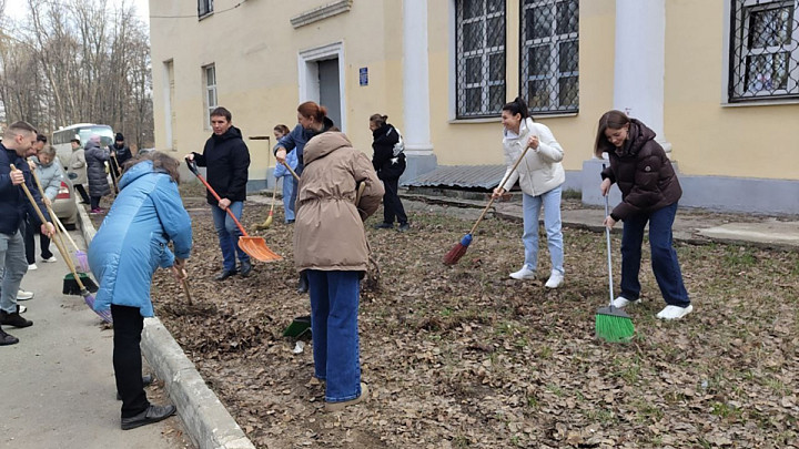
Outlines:
{"type": "MultiPolygon", "coordinates": [[[[20,227],[24,226],[24,215],[38,216],[28,201],[20,184],[24,183],[45,220],[50,220],[39,191],[33,187],[30,167],[24,160],[26,152],[37,141],[37,131],[26,122],[16,122],[6,129],[0,142],[0,261],[3,261],[4,274],[0,280],[0,324],[3,326],[28,327],[33,324],[19,314],[17,292],[22,276],[28,272],[24,255],[24,242],[20,227]],[[11,164],[17,170],[11,171],[11,164]]],[[[52,237],[53,225],[41,224],[41,233],[52,237]]],[[[0,346],[19,343],[17,337],[0,328],[0,346]]]]}

